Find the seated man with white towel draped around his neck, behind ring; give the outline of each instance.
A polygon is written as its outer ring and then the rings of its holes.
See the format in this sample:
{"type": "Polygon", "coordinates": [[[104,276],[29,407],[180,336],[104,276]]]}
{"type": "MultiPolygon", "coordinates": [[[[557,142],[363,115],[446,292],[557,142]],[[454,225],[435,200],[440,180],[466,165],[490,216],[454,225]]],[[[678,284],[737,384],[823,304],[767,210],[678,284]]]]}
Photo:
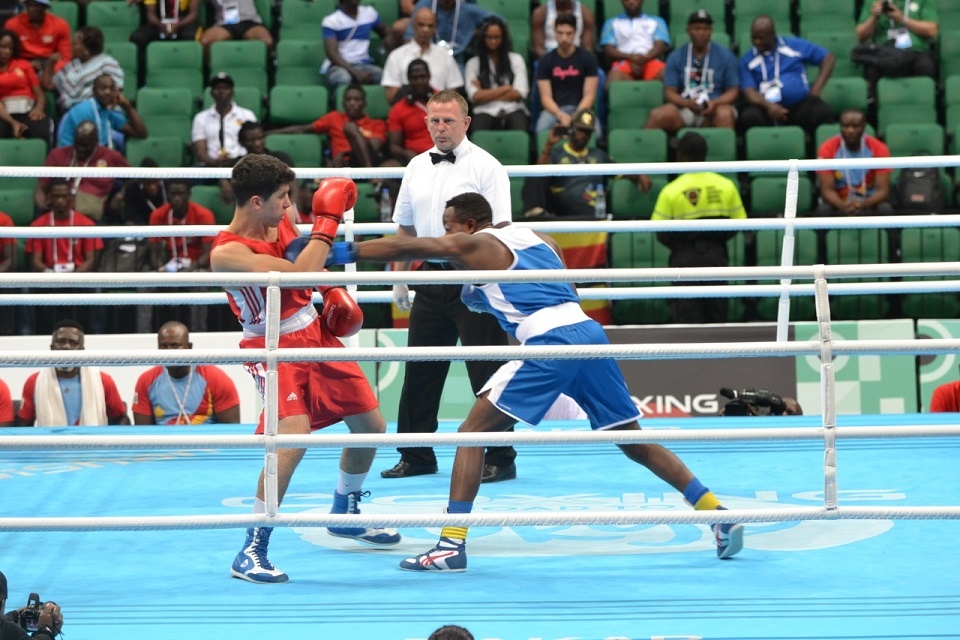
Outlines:
{"type": "MultiPolygon", "coordinates": [[[[83,325],[61,320],[53,328],[50,350],[82,351],[83,341],[83,325]]],[[[22,398],[17,411],[20,427],[130,424],[116,383],[98,367],[42,369],[24,382],[22,398]]]]}

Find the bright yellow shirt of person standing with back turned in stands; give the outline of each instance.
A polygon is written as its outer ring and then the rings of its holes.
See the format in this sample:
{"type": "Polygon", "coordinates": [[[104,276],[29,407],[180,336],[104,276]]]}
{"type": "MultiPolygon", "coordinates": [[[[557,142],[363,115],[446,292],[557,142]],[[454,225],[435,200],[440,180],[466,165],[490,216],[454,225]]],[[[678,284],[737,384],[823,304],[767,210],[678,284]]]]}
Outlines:
{"type": "Polygon", "coordinates": [[[718,173],[685,173],[660,192],[651,220],[746,218],[740,190],[718,173]]]}

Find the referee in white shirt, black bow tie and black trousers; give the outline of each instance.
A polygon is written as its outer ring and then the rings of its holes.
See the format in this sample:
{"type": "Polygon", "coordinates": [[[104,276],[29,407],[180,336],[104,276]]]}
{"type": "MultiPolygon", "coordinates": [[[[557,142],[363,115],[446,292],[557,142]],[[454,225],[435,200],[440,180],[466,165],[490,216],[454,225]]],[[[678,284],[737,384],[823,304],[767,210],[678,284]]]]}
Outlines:
{"type": "MultiPolygon", "coordinates": [[[[493,208],[494,225],[511,221],[510,181],[496,158],[467,140],[470,116],[467,102],[456,91],[441,91],[427,102],[427,129],[434,147],[413,158],[400,184],[393,212],[398,236],[436,238],[444,235],[444,204],[465,192],[483,195],[493,208]]],[[[420,270],[443,270],[442,262],[424,262],[420,270]]],[[[397,271],[410,263],[395,263],[397,271]]],[[[460,301],[461,285],[418,285],[411,308],[407,285],[393,287],[393,301],[410,311],[407,345],[411,347],[502,346],[507,335],[496,318],[474,313],[460,301]]],[[[503,362],[467,361],[467,374],[474,394],[503,362]]],[[[440,396],[450,370],[449,362],[408,362],[400,392],[398,433],[434,433],[440,396]]],[[[437,472],[431,447],[401,447],[400,461],[381,472],[384,478],[407,478],[437,472]]],[[[483,482],[516,478],[513,447],[490,447],[483,465],[483,482]]]]}

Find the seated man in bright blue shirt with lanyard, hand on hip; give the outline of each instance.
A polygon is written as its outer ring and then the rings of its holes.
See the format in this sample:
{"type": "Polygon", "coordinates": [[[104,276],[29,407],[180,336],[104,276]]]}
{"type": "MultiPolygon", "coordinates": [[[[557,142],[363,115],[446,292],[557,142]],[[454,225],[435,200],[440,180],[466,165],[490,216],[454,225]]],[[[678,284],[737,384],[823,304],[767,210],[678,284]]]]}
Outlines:
{"type": "Polygon", "coordinates": [[[740,114],[741,133],[756,126],[798,125],[813,136],[818,126],[835,122],[820,92],[833,73],[836,58],[801,38],[780,38],[770,16],[750,26],[753,48],[740,59],[740,89],[747,106],[740,114]],[[819,65],[811,85],[806,65],[819,65]]]}

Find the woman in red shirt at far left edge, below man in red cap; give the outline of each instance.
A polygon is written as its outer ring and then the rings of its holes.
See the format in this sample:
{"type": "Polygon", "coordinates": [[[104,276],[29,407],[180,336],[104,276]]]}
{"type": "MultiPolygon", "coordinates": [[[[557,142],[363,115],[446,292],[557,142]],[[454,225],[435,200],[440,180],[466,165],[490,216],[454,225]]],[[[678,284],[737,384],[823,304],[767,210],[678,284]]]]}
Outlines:
{"type": "Polygon", "coordinates": [[[33,66],[20,57],[20,38],[0,29],[0,138],[53,141],[47,98],[33,66]]]}

